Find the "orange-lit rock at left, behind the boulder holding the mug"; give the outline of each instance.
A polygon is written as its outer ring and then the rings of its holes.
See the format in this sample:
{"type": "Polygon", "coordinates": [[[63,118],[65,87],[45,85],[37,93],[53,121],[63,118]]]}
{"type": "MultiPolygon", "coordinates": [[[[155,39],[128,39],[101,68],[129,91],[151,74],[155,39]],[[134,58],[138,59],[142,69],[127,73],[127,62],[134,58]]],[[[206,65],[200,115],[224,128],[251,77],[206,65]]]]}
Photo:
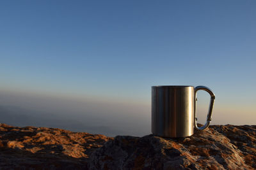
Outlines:
{"type": "Polygon", "coordinates": [[[87,169],[101,134],[0,124],[0,169],[87,169]]]}

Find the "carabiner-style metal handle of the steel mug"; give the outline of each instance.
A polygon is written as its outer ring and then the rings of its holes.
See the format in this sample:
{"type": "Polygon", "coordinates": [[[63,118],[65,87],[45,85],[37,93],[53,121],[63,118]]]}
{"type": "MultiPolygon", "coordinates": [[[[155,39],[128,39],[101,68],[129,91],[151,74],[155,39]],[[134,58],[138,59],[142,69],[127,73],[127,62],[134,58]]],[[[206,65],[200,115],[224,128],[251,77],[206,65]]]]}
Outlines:
{"type": "Polygon", "coordinates": [[[194,111],[194,113],[195,113],[195,127],[196,127],[196,129],[204,130],[204,129],[206,129],[207,127],[209,127],[210,122],[211,122],[211,120],[212,120],[212,110],[213,110],[214,99],[215,99],[215,95],[214,95],[214,93],[212,92],[212,90],[209,89],[208,87],[205,87],[205,86],[198,86],[198,87],[195,87],[195,111],[194,111]],[[208,92],[208,93],[210,94],[210,96],[211,96],[211,102],[210,102],[210,106],[209,106],[209,110],[208,110],[208,114],[207,114],[207,122],[206,122],[205,125],[202,126],[202,127],[198,127],[197,124],[196,124],[196,121],[197,121],[197,118],[196,118],[196,100],[197,100],[197,98],[196,98],[196,92],[197,92],[198,90],[205,90],[205,91],[208,92]]]}

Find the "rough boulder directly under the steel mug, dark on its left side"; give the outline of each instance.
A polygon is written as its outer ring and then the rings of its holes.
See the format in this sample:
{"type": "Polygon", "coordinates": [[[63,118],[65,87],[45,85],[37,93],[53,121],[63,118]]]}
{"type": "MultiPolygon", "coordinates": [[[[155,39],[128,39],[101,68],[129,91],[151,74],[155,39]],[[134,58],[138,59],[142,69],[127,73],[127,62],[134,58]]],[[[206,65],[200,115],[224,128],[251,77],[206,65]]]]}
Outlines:
{"type": "Polygon", "coordinates": [[[256,169],[256,126],[212,125],[188,138],[116,136],[90,169],[256,169]]]}

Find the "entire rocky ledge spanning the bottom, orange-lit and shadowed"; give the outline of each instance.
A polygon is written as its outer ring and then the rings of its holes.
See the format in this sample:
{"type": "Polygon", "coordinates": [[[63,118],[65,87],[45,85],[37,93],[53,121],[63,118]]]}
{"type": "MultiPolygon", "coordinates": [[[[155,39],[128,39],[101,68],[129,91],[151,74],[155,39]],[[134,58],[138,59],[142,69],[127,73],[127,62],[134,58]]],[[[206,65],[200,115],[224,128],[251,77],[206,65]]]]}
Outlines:
{"type": "Polygon", "coordinates": [[[0,169],[256,169],[255,125],[142,138],[0,124],[0,169]]]}

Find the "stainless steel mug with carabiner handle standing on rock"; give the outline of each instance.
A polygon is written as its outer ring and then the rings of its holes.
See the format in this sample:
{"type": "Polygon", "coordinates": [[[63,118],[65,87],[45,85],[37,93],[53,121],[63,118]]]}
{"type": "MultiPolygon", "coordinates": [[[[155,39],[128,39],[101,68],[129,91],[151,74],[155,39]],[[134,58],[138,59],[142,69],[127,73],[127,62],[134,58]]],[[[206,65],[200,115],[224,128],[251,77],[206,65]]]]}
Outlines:
{"type": "Polygon", "coordinates": [[[152,133],[167,138],[191,136],[196,129],[209,127],[215,96],[204,86],[152,86],[152,133]],[[207,122],[196,124],[196,92],[205,90],[211,95],[207,122]]]}

